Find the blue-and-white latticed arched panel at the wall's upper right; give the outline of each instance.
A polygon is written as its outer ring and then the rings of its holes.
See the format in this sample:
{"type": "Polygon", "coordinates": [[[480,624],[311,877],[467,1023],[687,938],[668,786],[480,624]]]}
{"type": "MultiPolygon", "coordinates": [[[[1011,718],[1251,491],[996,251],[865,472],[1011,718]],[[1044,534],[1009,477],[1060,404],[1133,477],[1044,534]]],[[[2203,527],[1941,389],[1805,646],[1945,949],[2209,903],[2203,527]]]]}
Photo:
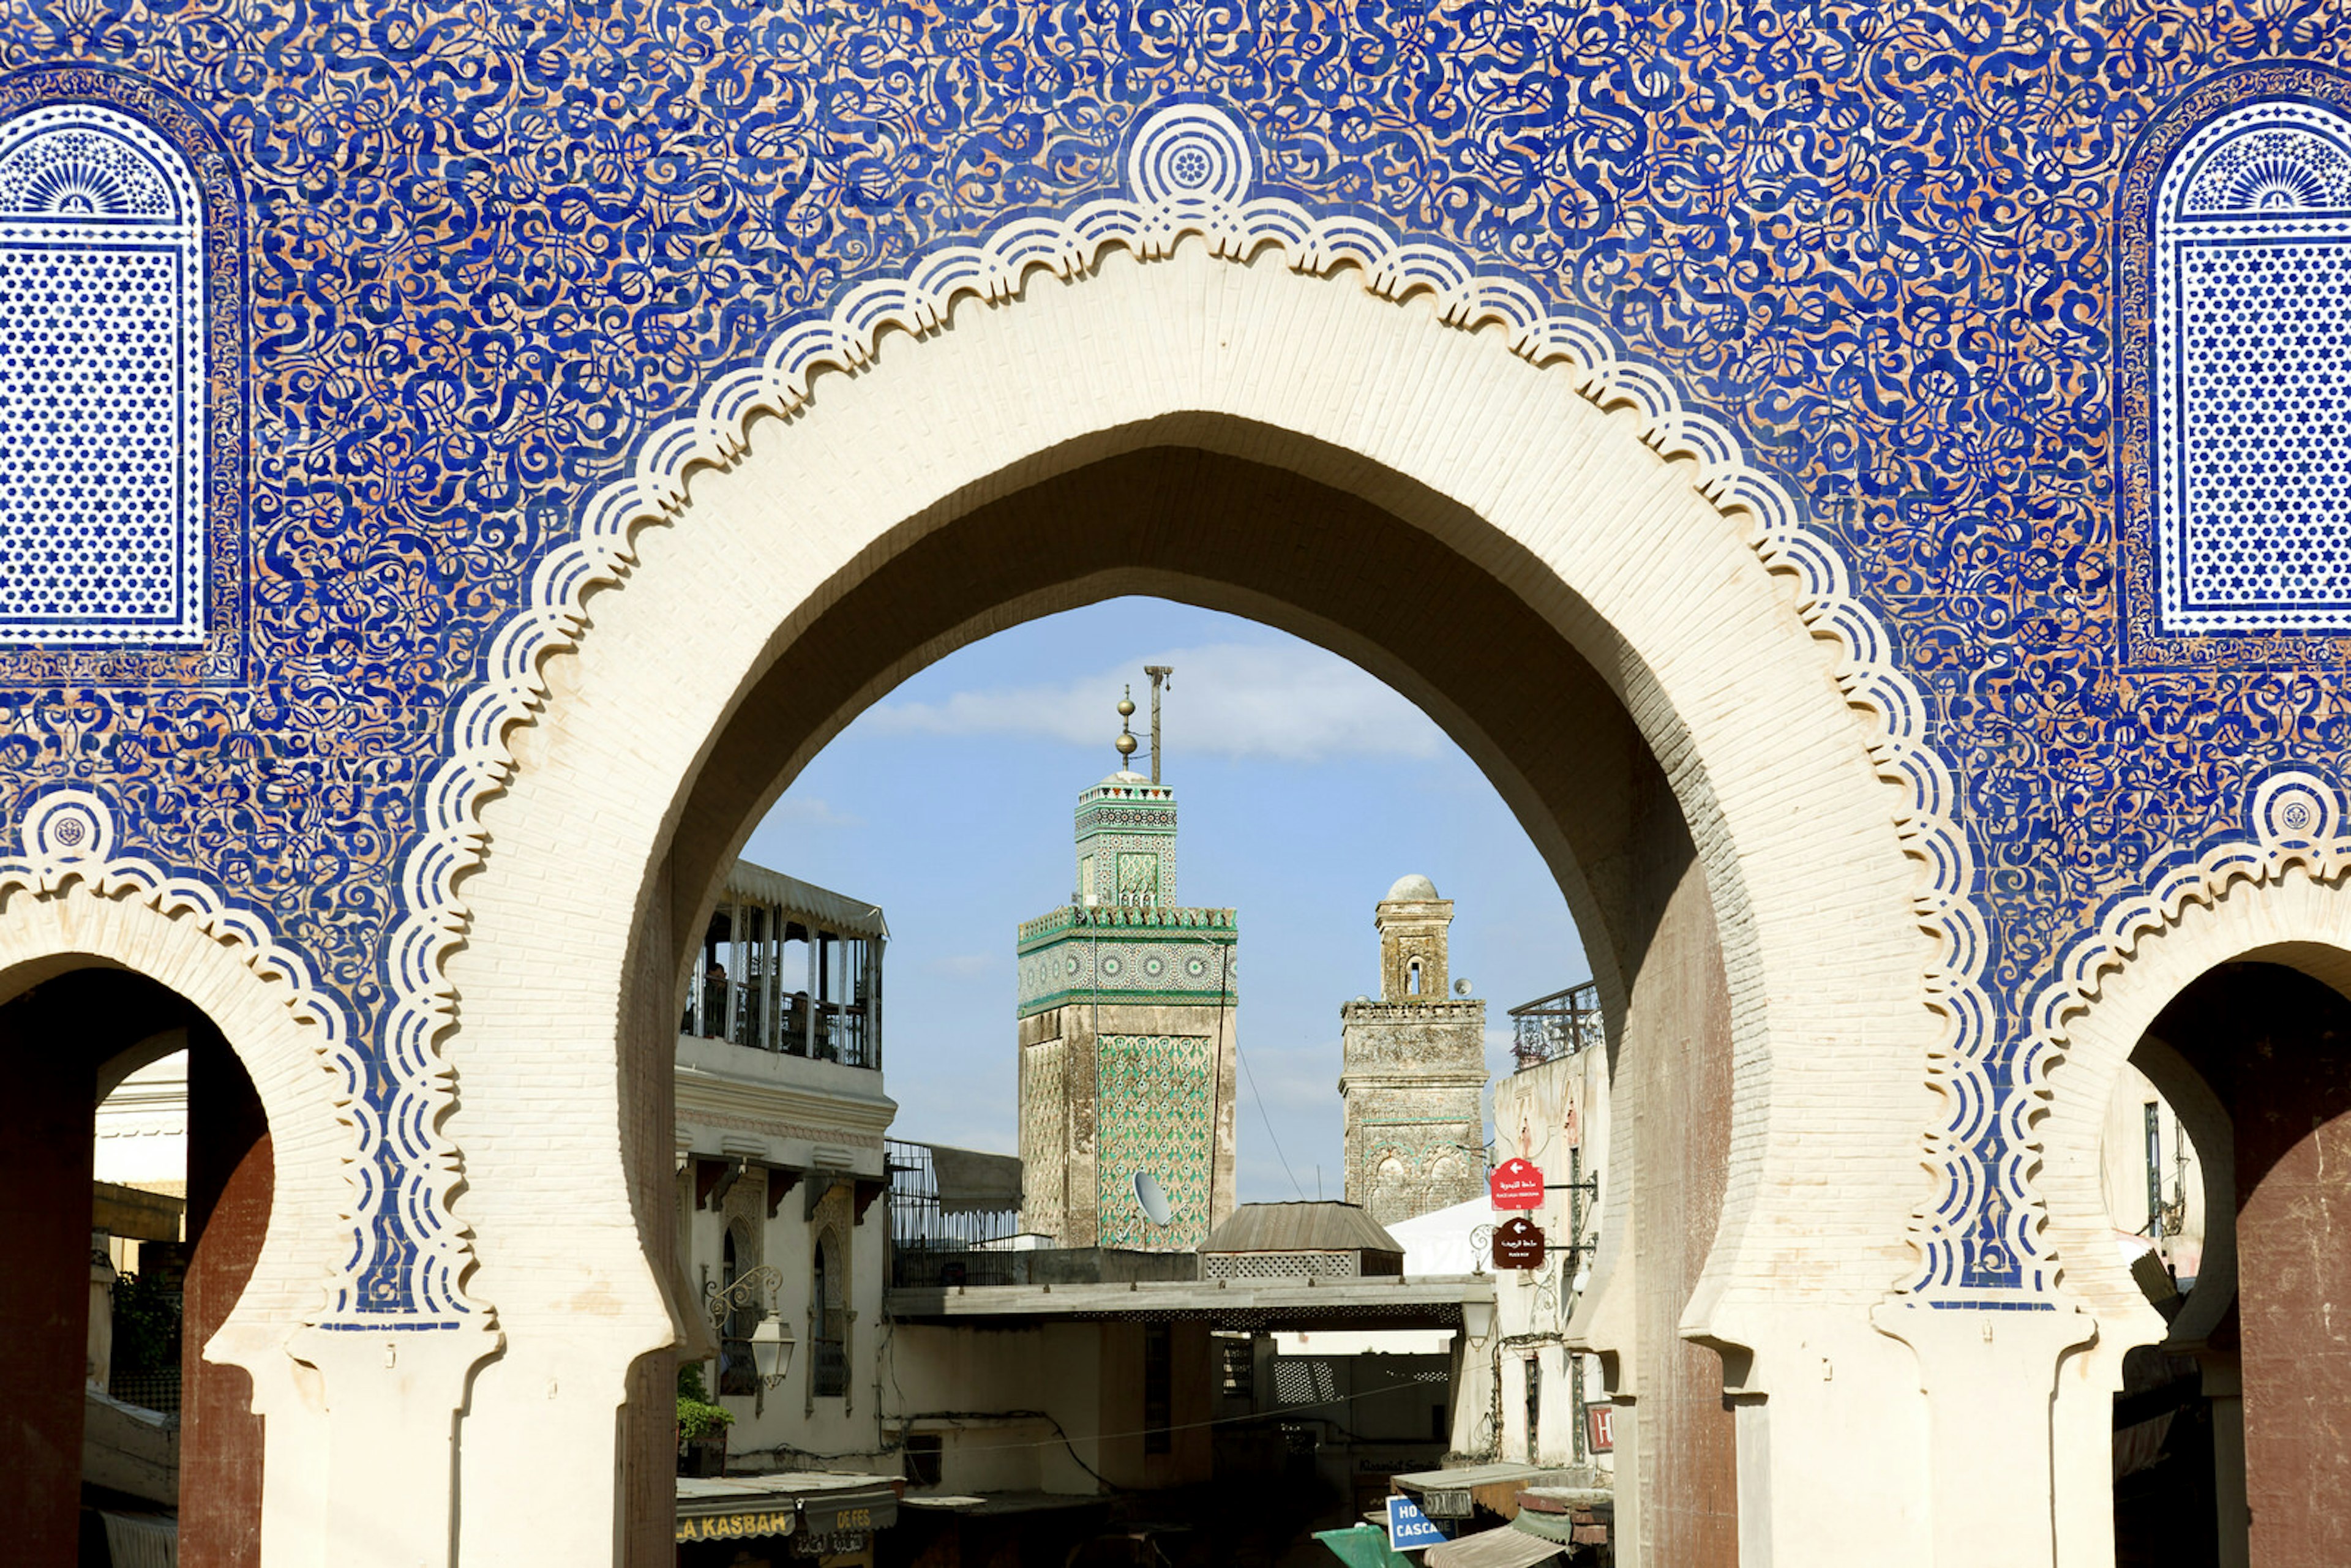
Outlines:
{"type": "Polygon", "coordinates": [[[2351,118],[2212,115],[2151,228],[2161,630],[2351,632],[2351,118]]]}

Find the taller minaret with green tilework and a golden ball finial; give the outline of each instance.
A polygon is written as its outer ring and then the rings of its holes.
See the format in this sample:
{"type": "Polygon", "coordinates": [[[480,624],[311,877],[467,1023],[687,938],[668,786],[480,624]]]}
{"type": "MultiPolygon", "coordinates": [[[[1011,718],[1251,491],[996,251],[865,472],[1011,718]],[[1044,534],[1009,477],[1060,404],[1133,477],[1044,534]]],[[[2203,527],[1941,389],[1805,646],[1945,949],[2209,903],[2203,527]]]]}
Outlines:
{"type": "Polygon", "coordinates": [[[1133,748],[1077,797],[1077,893],[1020,926],[1020,1227],[1192,1251],[1232,1213],[1239,926],[1176,903],[1176,790],[1133,748]]]}

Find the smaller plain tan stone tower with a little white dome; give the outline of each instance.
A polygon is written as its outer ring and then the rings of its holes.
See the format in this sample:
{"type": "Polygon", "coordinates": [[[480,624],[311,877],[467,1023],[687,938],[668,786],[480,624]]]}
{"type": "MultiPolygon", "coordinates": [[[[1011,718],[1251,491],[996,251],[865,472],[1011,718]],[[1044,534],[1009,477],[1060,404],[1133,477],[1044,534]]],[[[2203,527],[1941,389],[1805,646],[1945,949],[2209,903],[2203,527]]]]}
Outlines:
{"type": "Polygon", "coordinates": [[[1486,1001],[1446,992],[1453,900],[1427,877],[1387,889],[1373,924],[1380,999],[1338,1011],[1338,1093],[1347,1201],[1394,1225],[1486,1190],[1486,1001]]]}

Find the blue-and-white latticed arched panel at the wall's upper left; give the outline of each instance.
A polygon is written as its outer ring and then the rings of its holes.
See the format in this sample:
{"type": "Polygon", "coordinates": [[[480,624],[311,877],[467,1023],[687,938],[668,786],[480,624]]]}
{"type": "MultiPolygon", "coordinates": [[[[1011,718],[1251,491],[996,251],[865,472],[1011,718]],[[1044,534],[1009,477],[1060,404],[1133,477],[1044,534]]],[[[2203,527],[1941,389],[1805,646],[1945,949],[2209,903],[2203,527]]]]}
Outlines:
{"type": "Polygon", "coordinates": [[[205,207],[103,103],[0,122],[0,644],[207,632],[205,207]]]}

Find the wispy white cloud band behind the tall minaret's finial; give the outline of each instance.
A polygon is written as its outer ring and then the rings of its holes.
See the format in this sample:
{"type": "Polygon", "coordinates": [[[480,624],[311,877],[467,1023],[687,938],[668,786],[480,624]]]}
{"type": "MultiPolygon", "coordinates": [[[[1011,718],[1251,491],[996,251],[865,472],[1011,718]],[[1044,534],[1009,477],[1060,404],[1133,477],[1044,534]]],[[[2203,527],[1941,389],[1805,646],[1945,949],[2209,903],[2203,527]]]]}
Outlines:
{"type": "MultiPolygon", "coordinates": [[[[1190,755],[1326,762],[1434,757],[1444,733],[1418,708],[1335,654],[1305,642],[1211,642],[1138,656],[1056,686],[957,691],[940,703],[882,703],[860,719],[882,733],[1032,736],[1110,755],[1117,693],[1136,686],[1136,736],[1150,748],[1143,665],[1173,665],[1164,698],[1168,762],[1190,755]]],[[[1143,750],[1136,764],[1145,766],[1143,750]]]]}

